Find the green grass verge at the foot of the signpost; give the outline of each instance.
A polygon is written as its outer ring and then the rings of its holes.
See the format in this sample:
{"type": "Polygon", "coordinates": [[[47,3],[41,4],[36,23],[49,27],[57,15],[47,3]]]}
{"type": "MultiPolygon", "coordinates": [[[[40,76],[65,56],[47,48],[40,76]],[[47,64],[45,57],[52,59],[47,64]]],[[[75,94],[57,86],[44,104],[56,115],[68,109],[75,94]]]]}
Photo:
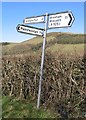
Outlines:
{"type": "Polygon", "coordinates": [[[55,118],[55,113],[41,107],[36,108],[36,102],[30,100],[19,100],[13,97],[3,97],[3,118],[55,118]]]}

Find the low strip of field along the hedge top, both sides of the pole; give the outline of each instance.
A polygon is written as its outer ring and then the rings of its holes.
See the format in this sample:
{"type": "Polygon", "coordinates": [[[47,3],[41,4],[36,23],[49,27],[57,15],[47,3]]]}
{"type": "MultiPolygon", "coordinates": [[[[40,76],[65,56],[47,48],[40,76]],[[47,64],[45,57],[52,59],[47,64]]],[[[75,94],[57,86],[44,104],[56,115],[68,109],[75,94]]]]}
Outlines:
{"type": "MultiPolygon", "coordinates": [[[[27,44],[23,46],[4,46],[2,52],[3,55],[18,55],[18,54],[38,54],[42,51],[42,45],[34,46],[32,49],[27,44]]],[[[46,47],[46,51],[53,53],[63,53],[71,55],[83,55],[84,54],[84,44],[54,44],[46,47]]]]}

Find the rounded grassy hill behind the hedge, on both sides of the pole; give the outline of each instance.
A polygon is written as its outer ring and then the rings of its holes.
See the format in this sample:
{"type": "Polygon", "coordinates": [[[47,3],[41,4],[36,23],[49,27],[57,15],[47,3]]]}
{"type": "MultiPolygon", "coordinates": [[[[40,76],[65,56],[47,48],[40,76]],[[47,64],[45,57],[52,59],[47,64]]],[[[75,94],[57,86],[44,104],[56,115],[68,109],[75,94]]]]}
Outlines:
{"type": "MultiPolygon", "coordinates": [[[[13,54],[25,54],[25,53],[37,53],[42,48],[42,37],[34,37],[30,40],[26,40],[21,43],[15,43],[15,44],[2,44],[2,54],[3,55],[13,55],[13,54]]],[[[62,46],[62,48],[65,47],[66,44],[71,44],[70,48],[77,44],[83,44],[84,43],[84,35],[83,34],[72,34],[72,33],[48,33],[47,34],[47,41],[46,41],[46,49],[47,50],[57,50],[58,46],[62,46]]],[[[77,46],[79,47],[79,50],[83,48],[83,45],[77,46]]],[[[67,46],[66,46],[67,48],[67,46]]],[[[68,48],[67,48],[68,50],[68,48]]]]}

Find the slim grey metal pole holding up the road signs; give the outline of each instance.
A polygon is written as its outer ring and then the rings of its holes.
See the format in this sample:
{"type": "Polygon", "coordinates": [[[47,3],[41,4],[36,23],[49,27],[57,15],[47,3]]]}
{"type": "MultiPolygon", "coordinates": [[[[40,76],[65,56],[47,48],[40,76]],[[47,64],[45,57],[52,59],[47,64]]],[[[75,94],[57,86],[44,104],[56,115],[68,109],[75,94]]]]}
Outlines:
{"type": "Polygon", "coordinates": [[[43,40],[43,48],[42,48],[42,59],[41,59],[41,69],[40,69],[40,80],[39,80],[39,91],[38,91],[38,100],[37,100],[37,109],[40,106],[40,96],[41,96],[41,85],[42,85],[42,75],[43,75],[43,64],[44,64],[44,52],[45,52],[45,43],[46,43],[46,34],[47,34],[47,21],[48,14],[46,13],[45,17],[45,31],[44,31],[44,40],[43,40]]]}

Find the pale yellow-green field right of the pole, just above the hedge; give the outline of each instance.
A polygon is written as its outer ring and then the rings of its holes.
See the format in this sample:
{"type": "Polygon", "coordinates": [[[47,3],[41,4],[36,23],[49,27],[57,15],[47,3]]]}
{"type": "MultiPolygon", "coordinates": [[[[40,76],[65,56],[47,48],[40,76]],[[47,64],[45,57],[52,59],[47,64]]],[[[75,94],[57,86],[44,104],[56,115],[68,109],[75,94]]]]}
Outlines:
{"type": "Polygon", "coordinates": [[[75,55],[80,56],[84,55],[84,44],[54,44],[48,48],[46,48],[48,52],[52,52],[54,54],[60,53],[64,55],[75,55]]]}

